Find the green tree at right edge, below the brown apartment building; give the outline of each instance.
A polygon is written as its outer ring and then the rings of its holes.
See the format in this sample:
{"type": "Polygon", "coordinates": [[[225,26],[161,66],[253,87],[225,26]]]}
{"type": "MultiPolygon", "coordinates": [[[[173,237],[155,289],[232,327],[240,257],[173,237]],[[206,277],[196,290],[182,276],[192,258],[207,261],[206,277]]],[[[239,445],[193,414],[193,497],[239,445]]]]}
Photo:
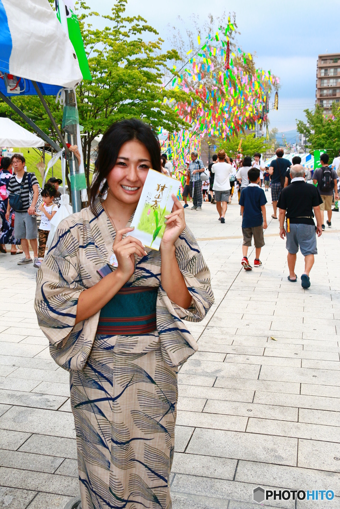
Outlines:
{"type": "Polygon", "coordinates": [[[314,110],[304,110],[307,123],[296,120],[297,130],[304,134],[310,151],[326,149],[332,158],[338,155],[340,149],[340,107],[332,104],[332,116],[325,118],[323,109],[316,106],[314,110]]]}

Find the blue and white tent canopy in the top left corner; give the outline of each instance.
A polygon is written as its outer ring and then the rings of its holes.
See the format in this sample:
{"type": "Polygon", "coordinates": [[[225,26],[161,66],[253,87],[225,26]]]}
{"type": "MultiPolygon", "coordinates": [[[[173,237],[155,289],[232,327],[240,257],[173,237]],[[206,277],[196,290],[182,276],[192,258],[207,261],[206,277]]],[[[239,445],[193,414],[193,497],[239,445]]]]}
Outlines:
{"type": "Polygon", "coordinates": [[[27,87],[32,93],[29,80],[50,89],[74,88],[83,79],[73,46],[48,0],[0,0],[0,27],[0,81],[6,95],[18,94],[16,88],[25,94],[27,87]]]}

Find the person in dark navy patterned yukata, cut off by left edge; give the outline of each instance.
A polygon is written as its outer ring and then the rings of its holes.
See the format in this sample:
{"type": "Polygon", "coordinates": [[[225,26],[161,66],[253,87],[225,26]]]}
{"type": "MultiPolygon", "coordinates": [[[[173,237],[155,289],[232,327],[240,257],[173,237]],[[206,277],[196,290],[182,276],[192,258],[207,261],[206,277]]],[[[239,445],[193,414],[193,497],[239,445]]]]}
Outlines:
{"type": "Polygon", "coordinates": [[[0,232],[0,251],[2,253],[6,253],[5,244],[12,244],[11,254],[22,254],[22,250],[17,247],[20,244],[20,239],[16,239],[14,237],[14,220],[12,221],[12,214],[14,211],[11,209],[10,219],[7,221],[6,212],[7,212],[7,202],[9,192],[7,190],[8,183],[12,174],[10,172],[11,167],[11,159],[10,157],[3,157],[1,160],[0,166],[0,218],[2,220],[2,227],[0,232]]]}

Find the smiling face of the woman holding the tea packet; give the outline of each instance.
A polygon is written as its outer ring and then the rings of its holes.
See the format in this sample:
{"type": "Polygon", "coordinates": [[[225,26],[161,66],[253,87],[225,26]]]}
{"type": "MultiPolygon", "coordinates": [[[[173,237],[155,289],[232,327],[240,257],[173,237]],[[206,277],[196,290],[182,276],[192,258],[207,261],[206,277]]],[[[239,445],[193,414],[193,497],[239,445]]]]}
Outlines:
{"type": "Polygon", "coordinates": [[[145,145],[136,139],[124,143],[107,177],[109,192],[119,202],[137,205],[149,168],[151,158],[145,145]]]}

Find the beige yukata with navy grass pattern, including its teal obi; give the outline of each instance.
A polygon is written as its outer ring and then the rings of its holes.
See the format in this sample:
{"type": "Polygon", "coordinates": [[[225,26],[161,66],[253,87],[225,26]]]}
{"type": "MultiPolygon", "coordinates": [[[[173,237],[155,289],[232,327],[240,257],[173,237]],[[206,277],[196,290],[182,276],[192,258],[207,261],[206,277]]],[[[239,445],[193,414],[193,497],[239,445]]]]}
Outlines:
{"type": "Polygon", "coordinates": [[[99,199],[95,214],[62,221],[37,273],[35,309],[51,356],[70,372],[82,509],[171,509],[178,365],[198,349],[182,320],[202,320],[213,304],[210,272],[186,228],[175,249],[188,309],[170,301],[161,253],[146,248],[118,294],[74,325],[80,294],[113,264],[114,239],[99,199]]]}

